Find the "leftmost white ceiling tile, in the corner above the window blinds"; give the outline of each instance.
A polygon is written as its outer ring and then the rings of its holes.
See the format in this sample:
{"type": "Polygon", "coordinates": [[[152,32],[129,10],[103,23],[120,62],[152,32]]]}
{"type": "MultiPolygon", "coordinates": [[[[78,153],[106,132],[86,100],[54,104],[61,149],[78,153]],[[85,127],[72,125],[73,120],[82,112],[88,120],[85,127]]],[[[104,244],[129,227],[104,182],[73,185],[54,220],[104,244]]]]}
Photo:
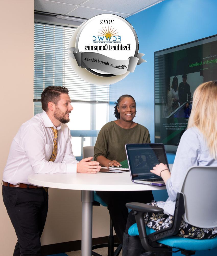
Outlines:
{"type": "Polygon", "coordinates": [[[58,2],[53,2],[49,0],[35,0],[34,9],[36,11],[47,12],[47,13],[56,13],[56,14],[65,14],[70,12],[76,5],[73,4],[63,4],[58,2]]]}

